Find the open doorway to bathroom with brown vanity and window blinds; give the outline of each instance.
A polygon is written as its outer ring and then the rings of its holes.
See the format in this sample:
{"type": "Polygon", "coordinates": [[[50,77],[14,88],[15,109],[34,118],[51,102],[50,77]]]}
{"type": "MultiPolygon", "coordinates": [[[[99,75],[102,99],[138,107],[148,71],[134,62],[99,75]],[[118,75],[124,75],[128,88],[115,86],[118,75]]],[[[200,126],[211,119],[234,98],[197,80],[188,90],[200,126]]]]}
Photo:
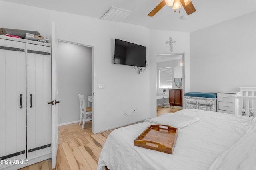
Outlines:
{"type": "Polygon", "coordinates": [[[158,54],[157,71],[157,116],[182,109],[184,86],[184,54],[158,54]]]}

